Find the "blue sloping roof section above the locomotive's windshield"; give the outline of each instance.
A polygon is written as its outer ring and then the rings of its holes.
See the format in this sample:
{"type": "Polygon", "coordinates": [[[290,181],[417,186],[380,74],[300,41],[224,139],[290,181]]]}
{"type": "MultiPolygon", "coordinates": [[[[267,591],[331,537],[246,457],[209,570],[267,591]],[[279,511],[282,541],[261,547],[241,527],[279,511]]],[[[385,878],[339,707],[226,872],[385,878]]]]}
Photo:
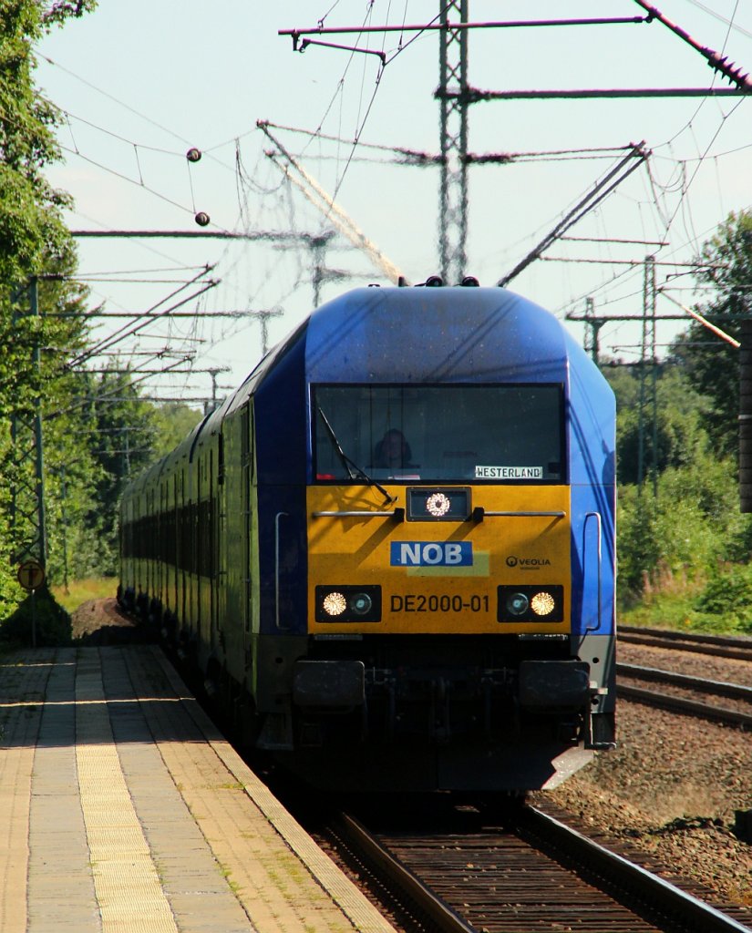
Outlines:
{"type": "Polygon", "coordinates": [[[565,382],[564,327],[503,288],[358,288],[314,312],[306,377],[368,383],[565,382]]]}

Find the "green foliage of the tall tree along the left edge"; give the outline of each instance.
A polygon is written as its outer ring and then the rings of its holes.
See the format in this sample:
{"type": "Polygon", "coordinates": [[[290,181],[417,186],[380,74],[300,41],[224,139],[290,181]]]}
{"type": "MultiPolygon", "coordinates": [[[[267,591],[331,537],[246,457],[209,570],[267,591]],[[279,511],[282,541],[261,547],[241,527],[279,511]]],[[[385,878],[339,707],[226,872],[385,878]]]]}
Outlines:
{"type": "MultiPolygon", "coordinates": [[[[59,116],[34,81],[38,40],[94,6],[93,0],[0,3],[0,619],[21,599],[16,568],[35,544],[28,516],[35,511],[37,399],[43,400],[53,552],[61,526],[61,471],[70,467],[70,499],[84,503],[97,467],[89,436],[72,416],[80,383],[67,367],[89,340],[81,316],[88,295],[72,279],[77,259],[63,222],[67,196],[51,188],[45,175],[59,157],[59,116]]],[[[96,508],[93,501],[88,508],[96,508]]]]}

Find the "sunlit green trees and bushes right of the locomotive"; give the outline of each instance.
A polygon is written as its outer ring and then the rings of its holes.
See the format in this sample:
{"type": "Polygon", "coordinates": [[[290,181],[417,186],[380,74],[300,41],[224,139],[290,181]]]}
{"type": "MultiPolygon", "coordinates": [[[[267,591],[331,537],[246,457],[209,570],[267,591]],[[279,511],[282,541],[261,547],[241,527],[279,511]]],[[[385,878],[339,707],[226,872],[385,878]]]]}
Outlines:
{"type": "MultiPolygon", "coordinates": [[[[752,310],[752,212],[729,216],[697,261],[701,284],[714,286],[699,310],[737,335],[738,316],[752,310]]],[[[652,370],[642,384],[638,368],[606,373],[618,404],[620,605],[633,616],[655,622],[662,613],[664,623],[726,631],[750,624],[752,518],[739,511],[738,359],[728,342],[692,325],[656,373],[655,410],[652,370]]]]}

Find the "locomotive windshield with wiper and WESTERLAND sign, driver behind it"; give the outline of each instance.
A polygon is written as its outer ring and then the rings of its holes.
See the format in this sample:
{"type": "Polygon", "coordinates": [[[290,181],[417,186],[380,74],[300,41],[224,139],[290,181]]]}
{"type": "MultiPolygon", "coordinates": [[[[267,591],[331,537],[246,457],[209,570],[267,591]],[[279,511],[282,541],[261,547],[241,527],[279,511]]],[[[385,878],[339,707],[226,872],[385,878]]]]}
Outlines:
{"type": "Polygon", "coordinates": [[[560,384],[318,385],[312,411],[319,481],[565,481],[560,384]]]}

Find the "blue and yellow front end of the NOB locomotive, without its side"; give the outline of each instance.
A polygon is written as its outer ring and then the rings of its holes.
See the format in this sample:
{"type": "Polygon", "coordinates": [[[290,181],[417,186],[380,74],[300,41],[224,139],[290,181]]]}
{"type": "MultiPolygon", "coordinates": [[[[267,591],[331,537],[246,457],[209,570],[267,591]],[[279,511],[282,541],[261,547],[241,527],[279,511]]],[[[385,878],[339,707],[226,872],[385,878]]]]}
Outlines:
{"type": "Polygon", "coordinates": [[[612,745],[614,403],[564,328],[501,289],[361,289],[312,316],[305,392],[296,767],[519,790],[612,745]]]}

